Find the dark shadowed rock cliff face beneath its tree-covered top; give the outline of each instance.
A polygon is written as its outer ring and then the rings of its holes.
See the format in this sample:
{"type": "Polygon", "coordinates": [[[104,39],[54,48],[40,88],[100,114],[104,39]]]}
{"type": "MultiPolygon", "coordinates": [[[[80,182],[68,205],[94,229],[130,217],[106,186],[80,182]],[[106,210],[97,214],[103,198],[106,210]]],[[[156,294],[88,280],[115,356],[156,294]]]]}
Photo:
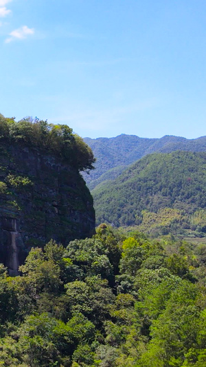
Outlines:
{"type": "Polygon", "coordinates": [[[16,273],[32,246],[91,235],[93,199],[78,169],[36,148],[1,143],[0,262],[16,273]]]}

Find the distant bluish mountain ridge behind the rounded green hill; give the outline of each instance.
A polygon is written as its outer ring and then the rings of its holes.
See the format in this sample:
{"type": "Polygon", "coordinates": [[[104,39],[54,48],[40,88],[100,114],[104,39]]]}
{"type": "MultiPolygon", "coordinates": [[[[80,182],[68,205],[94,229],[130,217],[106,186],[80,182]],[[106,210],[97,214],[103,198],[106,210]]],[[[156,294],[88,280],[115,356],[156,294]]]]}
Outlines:
{"type": "Polygon", "coordinates": [[[104,180],[113,180],[128,165],[147,154],[170,153],[176,150],[206,151],[206,136],[189,140],[169,135],[150,139],[122,134],[115,138],[84,138],[84,141],[97,158],[95,171],[91,171],[89,175],[84,174],[89,189],[93,189],[104,180]]]}

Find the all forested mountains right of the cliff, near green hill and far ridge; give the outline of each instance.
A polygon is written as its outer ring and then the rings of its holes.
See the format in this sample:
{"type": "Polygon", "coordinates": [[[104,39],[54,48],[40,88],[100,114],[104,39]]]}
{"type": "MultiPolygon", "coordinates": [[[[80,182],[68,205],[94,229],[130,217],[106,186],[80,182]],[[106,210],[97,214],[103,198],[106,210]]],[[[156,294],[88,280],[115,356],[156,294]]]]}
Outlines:
{"type": "Polygon", "coordinates": [[[95,170],[84,174],[96,224],[135,227],[154,236],[205,236],[206,136],[122,134],[84,141],[97,158],[95,170]]]}

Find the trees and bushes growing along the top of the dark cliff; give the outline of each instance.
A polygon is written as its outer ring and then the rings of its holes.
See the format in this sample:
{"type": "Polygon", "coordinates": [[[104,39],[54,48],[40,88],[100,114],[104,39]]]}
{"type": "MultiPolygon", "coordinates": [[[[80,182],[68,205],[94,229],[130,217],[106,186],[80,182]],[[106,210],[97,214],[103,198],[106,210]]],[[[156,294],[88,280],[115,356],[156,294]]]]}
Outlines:
{"type": "Polygon", "coordinates": [[[72,133],[68,125],[53,125],[47,120],[5,118],[0,114],[0,140],[38,148],[67,160],[80,171],[93,169],[95,159],[91,148],[82,138],[72,133]]]}

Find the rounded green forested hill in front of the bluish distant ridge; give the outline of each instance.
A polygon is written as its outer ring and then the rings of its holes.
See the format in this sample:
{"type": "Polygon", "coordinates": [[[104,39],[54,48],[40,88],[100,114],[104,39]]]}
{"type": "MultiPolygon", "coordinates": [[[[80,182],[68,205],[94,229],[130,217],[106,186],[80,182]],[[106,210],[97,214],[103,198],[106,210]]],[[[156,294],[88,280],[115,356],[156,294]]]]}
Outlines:
{"type": "Polygon", "coordinates": [[[93,189],[97,223],[206,231],[206,153],[149,154],[93,189]]]}

